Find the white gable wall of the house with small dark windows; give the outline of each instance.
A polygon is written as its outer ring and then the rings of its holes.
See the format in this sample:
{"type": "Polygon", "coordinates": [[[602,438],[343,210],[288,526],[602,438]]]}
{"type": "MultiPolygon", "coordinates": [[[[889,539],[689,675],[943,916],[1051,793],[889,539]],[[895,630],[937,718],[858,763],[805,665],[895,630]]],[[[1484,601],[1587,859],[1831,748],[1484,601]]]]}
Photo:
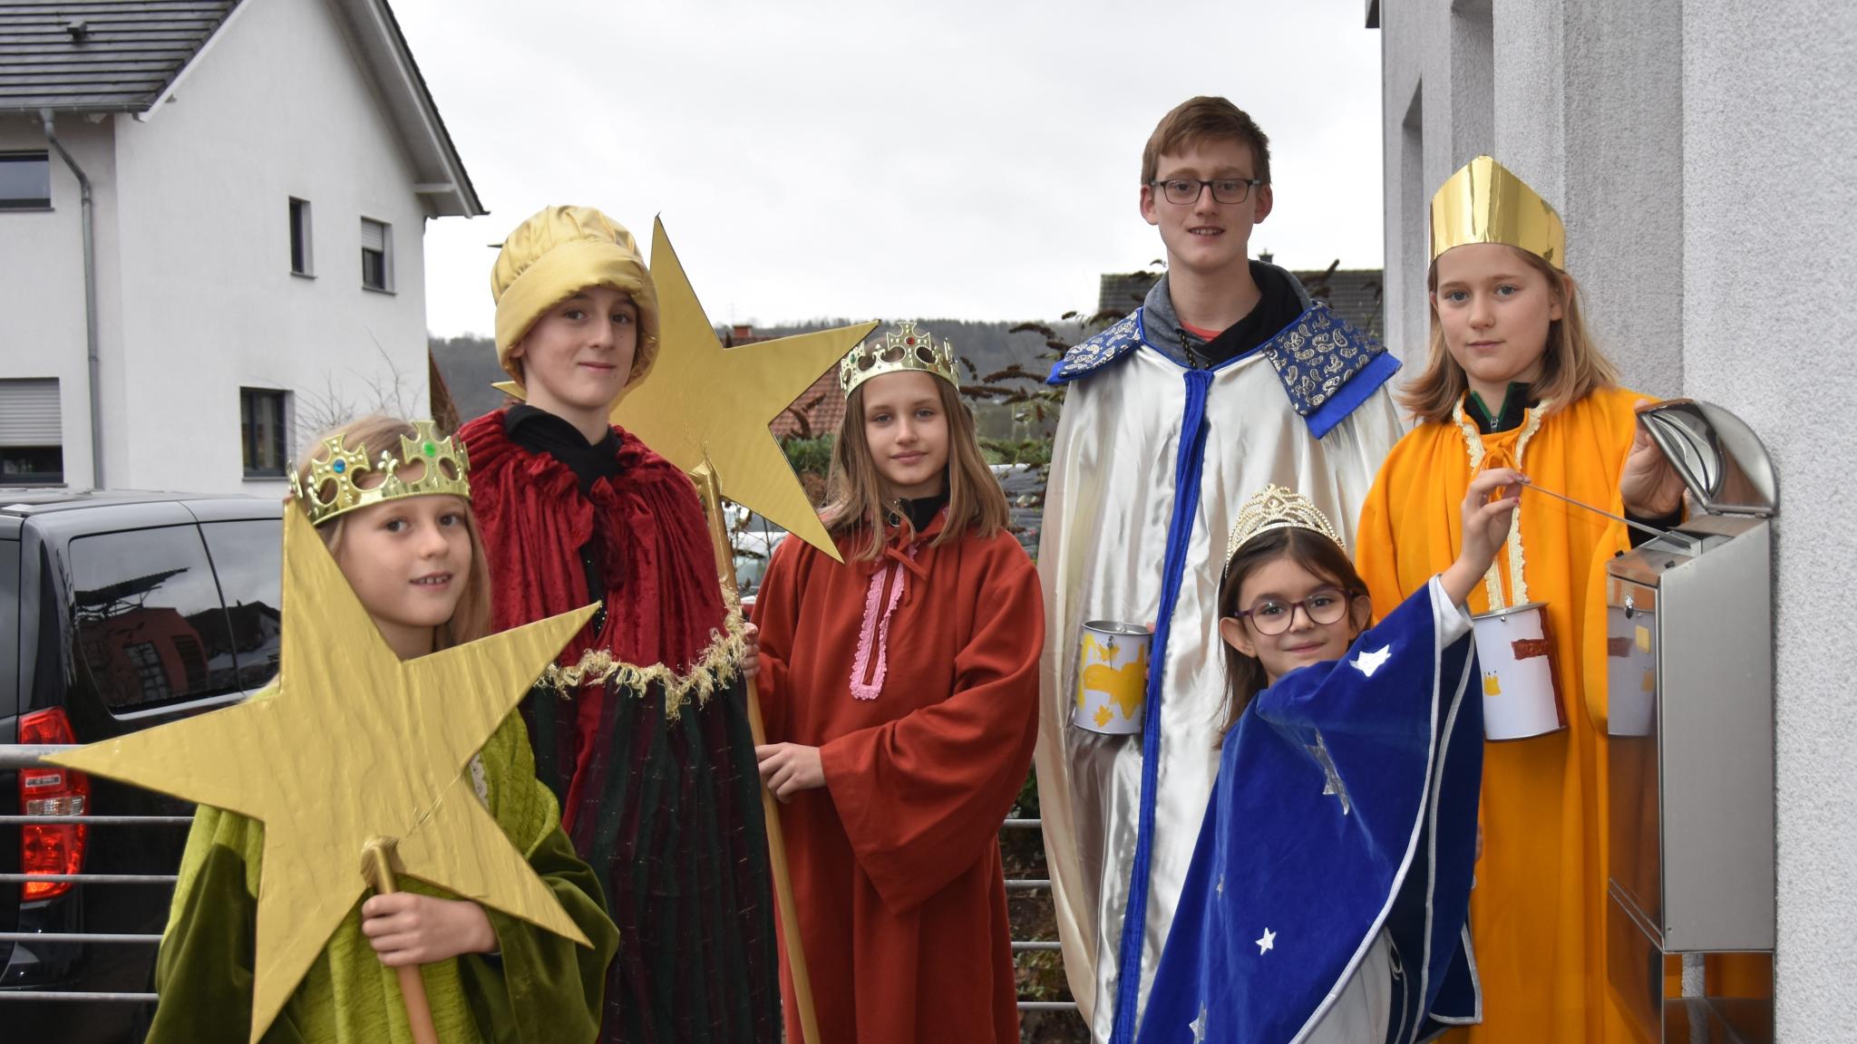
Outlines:
{"type": "Polygon", "coordinates": [[[126,403],[104,442],[139,487],[280,494],[241,477],[241,386],[292,392],[303,425],[425,412],[425,212],[327,4],[245,0],[221,33],[147,123],[115,121],[126,403]],[[290,271],[290,197],[314,279],[290,271]],[[362,217],[392,225],[397,294],[362,290],[362,217]]]}

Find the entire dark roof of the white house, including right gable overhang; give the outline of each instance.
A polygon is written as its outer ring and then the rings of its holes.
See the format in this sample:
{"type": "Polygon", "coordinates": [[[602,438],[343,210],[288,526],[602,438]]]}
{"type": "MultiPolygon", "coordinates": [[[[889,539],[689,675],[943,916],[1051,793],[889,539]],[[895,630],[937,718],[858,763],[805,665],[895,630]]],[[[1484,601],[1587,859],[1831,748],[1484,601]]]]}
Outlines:
{"type": "MultiPolygon", "coordinates": [[[[487,214],[386,0],[329,0],[379,89],[433,217],[487,214]]],[[[238,0],[67,0],[0,6],[0,113],[152,115],[238,0]]]]}

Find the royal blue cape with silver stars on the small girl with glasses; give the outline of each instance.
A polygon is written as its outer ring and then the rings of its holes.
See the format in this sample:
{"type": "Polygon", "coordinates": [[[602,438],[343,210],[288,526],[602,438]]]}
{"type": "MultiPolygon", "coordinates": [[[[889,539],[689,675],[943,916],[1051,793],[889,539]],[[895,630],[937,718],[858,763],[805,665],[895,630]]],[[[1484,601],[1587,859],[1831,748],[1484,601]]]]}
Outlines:
{"type": "Polygon", "coordinates": [[[1344,659],[1279,678],[1226,736],[1140,1044],[1304,1040],[1382,929],[1387,1042],[1480,1020],[1484,704],[1469,633],[1439,641],[1434,587],[1344,659]]]}

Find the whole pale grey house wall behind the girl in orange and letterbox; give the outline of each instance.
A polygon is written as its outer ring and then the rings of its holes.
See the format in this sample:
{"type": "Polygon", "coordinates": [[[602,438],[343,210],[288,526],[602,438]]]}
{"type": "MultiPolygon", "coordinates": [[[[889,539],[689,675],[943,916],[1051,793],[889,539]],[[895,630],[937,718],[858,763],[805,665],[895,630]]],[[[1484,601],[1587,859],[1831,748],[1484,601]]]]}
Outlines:
{"type": "Polygon", "coordinates": [[[1857,321],[1857,6],[1489,7],[1484,149],[1478,100],[1452,95],[1467,69],[1452,63],[1465,39],[1454,22],[1478,6],[1380,7],[1387,329],[1413,344],[1428,320],[1413,201],[1487,149],[1560,206],[1567,268],[1625,383],[1716,401],[1764,438],[1781,489],[1775,1029],[1786,1042],[1844,1038],[1857,981],[1857,496],[1846,476],[1857,461],[1846,334],[1857,321]]]}

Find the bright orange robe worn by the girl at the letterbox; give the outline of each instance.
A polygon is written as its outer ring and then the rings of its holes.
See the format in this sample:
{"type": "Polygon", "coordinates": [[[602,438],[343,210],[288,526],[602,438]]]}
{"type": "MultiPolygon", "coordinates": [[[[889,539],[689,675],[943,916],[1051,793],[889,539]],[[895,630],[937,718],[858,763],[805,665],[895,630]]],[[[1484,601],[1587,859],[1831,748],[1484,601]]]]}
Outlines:
{"type": "MultiPolygon", "coordinates": [[[[1458,424],[1428,422],[1400,438],[1361,509],[1356,557],[1374,613],[1391,613],[1458,557],[1473,466],[1513,466],[1543,489],[1623,515],[1617,487],[1640,398],[1603,388],[1562,411],[1530,409],[1519,427],[1495,435],[1478,433],[1460,409],[1458,424]]],[[[1547,602],[1567,728],[1484,747],[1484,855],[1471,892],[1484,1022],[1450,1040],[1638,1040],[1604,968],[1604,565],[1629,546],[1625,526],[1525,490],[1510,544],[1469,596],[1471,613],[1489,611],[1491,583],[1508,606],[1547,602]]]]}

